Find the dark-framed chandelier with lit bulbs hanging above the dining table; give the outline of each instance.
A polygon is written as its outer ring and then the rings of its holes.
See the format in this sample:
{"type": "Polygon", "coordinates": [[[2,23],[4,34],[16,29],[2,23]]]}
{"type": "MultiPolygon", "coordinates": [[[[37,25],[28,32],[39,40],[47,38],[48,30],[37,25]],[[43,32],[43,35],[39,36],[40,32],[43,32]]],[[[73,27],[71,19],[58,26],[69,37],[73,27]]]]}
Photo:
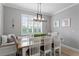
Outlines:
{"type": "Polygon", "coordinates": [[[43,18],[43,15],[41,13],[41,3],[37,4],[37,14],[36,17],[33,18],[33,20],[39,22],[46,22],[46,20],[43,18]]]}

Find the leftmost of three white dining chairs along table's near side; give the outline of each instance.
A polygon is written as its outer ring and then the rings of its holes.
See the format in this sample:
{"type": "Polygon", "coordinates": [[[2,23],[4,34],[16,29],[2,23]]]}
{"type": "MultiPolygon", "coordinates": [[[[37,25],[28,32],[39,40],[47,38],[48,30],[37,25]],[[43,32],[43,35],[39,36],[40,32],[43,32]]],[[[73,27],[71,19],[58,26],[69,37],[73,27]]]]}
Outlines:
{"type": "Polygon", "coordinates": [[[33,37],[31,45],[29,46],[31,56],[40,56],[40,45],[41,45],[41,38],[33,37]]]}

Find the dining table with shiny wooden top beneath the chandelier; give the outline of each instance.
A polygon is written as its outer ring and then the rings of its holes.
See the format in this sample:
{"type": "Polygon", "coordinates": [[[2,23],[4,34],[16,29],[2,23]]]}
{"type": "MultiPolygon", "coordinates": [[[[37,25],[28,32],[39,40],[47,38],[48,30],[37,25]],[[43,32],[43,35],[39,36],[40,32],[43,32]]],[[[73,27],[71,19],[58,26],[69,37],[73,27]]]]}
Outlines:
{"type": "MultiPolygon", "coordinates": [[[[25,37],[21,37],[21,40],[19,40],[17,48],[22,49],[22,56],[26,56],[26,51],[29,49],[30,46],[35,44],[32,42],[32,40],[30,40],[31,38],[33,39],[34,37],[25,36],[25,37]]],[[[41,40],[40,46],[43,46],[44,39],[46,38],[46,36],[41,36],[39,38],[41,40]]]]}

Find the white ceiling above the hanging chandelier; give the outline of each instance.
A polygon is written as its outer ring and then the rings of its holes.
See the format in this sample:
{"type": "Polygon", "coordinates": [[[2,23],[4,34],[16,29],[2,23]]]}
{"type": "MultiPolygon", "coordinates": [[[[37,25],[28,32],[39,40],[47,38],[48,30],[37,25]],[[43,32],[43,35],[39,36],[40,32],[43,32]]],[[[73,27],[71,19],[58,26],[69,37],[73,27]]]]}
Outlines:
{"type": "MultiPolygon", "coordinates": [[[[42,3],[42,13],[53,15],[74,3],[42,3]]],[[[32,12],[37,11],[37,3],[6,3],[5,6],[20,8],[32,12]]]]}

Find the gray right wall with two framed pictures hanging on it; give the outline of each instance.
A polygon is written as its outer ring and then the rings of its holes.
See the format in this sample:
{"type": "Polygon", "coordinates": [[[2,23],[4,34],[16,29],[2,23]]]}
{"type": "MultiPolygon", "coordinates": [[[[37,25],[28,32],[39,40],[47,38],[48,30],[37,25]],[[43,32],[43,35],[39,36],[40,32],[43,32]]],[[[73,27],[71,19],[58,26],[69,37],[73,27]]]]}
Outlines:
{"type": "Polygon", "coordinates": [[[60,35],[64,38],[63,43],[65,45],[79,49],[79,4],[54,15],[52,17],[51,27],[52,31],[59,32],[60,35]],[[61,21],[64,18],[71,18],[70,28],[69,27],[63,28],[61,26],[60,28],[53,27],[54,20],[60,20],[61,25],[61,21]]]}

